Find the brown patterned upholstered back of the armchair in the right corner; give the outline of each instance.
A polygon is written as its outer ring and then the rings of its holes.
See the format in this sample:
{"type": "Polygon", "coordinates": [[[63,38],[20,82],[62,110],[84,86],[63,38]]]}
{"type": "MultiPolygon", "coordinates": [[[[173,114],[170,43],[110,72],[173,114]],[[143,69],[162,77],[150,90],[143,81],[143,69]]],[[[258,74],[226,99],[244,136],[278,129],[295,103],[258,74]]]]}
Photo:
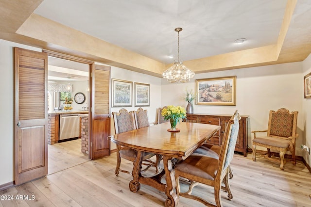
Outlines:
{"type": "Polygon", "coordinates": [[[268,137],[295,137],[298,111],[287,109],[271,110],[269,113],[268,137]]]}

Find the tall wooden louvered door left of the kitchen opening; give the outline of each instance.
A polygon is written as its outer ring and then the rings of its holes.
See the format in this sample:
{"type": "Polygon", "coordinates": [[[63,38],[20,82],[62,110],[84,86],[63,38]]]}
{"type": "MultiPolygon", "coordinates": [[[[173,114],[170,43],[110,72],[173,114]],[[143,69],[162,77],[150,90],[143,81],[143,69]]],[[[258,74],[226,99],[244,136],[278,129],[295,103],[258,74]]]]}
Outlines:
{"type": "Polygon", "coordinates": [[[15,48],[15,184],[48,173],[46,53],[15,48]]]}

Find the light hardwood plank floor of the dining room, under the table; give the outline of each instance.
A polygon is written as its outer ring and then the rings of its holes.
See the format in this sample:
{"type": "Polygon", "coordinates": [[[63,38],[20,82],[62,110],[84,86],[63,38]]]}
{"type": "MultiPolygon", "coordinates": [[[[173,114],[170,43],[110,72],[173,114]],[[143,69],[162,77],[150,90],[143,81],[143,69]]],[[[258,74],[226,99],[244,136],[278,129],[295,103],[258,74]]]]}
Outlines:
{"type": "MultiPolygon", "coordinates": [[[[64,155],[64,159],[65,155],[64,155]]],[[[231,162],[234,177],[229,180],[233,199],[222,191],[224,207],[310,207],[311,174],[301,161],[296,166],[285,164],[279,169],[279,159],[258,156],[252,161],[235,154],[231,162]]],[[[129,190],[131,176],[114,175],[116,153],[110,157],[86,161],[26,184],[0,191],[14,200],[0,200],[0,207],[160,207],[166,196],[152,187],[141,185],[137,193],[129,190]],[[35,196],[34,200],[16,200],[19,195],[35,196]]],[[[121,166],[129,170],[132,163],[122,159],[121,166]]],[[[148,170],[153,173],[153,170],[148,170]]],[[[185,184],[182,184],[185,190],[185,184]]],[[[213,190],[198,186],[194,192],[214,202],[213,190]]],[[[203,204],[180,197],[178,207],[202,207],[203,204]]]]}

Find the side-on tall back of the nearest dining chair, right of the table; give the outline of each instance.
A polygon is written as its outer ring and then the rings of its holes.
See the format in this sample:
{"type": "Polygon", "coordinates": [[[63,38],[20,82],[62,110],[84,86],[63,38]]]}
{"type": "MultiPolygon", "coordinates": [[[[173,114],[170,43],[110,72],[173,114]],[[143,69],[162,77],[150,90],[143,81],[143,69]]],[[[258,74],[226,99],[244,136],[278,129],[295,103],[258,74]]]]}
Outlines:
{"type": "Polygon", "coordinates": [[[240,119],[240,114],[238,111],[235,111],[234,115],[230,118],[227,126],[225,127],[223,144],[219,155],[218,172],[220,175],[225,171],[225,169],[227,169],[233,159],[234,149],[239,134],[240,119]]]}

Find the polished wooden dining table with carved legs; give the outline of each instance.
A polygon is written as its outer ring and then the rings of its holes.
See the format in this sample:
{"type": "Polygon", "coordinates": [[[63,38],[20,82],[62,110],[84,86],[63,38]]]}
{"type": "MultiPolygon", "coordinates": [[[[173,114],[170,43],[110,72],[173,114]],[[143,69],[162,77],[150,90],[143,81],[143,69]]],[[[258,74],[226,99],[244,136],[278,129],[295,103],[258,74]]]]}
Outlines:
{"type": "Polygon", "coordinates": [[[204,144],[221,128],[217,125],[190,122],[180,122],[176,127],[179,131],[168,131],[171,125],[170,122],[166,122],[110,137],[113,143],[137,151],[137,159],[134,161],[132,171],[133,179],[129,183],[130,191],[139,191],[140,184],[163,191],[167,196],[165,207],[176,207],[179,201],[179,197],[174,191],[176,180],[173,165],[180,160],[187,159],[195,149],[204,144]],[[164,169],[152,176],[142,175],[142,156],[145,152],[161,155],[164,169]],[[161,182],[163,176],[165,176],[165,182],[161,182]]]}

